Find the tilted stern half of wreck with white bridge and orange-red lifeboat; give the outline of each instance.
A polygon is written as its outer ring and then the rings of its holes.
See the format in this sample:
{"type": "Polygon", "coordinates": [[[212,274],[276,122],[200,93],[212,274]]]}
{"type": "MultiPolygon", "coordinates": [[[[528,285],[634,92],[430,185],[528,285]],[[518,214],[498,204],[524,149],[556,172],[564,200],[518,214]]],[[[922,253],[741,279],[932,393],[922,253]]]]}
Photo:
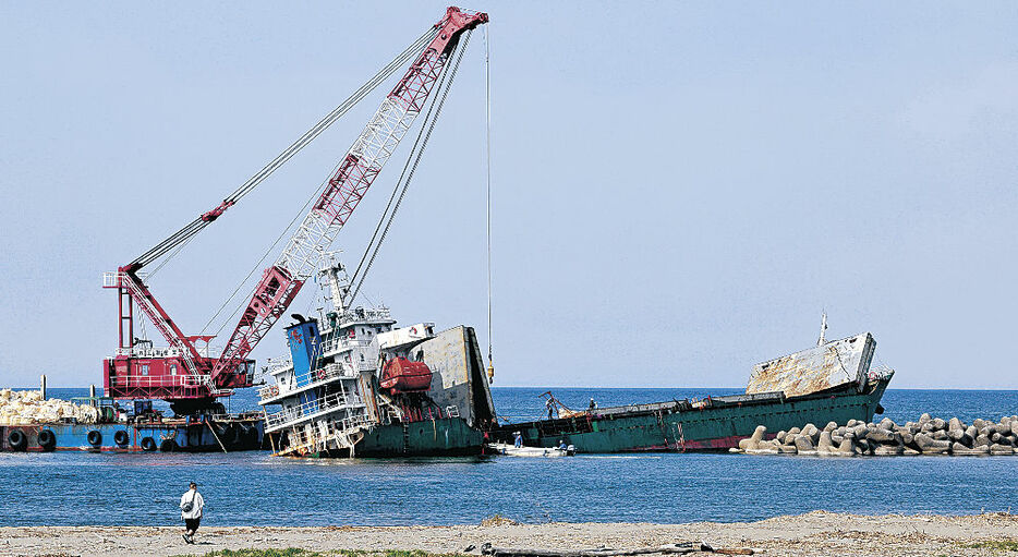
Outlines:
{"type": "Polygon", "coordinates": [[[319,283],[320,318],[294,315],[290,358],[271,364],[275,383],[259,390],[274,453],[480,455],[495,409],[473,328],[397,327],[386,307],[349,307],[335,261],[319,283]]]}

